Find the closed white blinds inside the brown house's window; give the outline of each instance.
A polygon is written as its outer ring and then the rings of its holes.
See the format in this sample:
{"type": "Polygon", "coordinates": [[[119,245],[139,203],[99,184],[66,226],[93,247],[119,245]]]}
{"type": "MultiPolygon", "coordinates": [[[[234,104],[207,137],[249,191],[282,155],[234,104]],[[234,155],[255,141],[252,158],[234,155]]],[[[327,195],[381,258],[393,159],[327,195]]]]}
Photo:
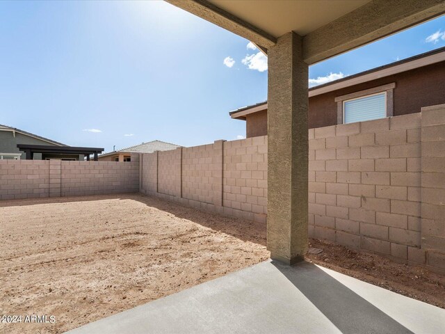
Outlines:
{"type": "Polygon", "coordinates": [[[387,117],[386,100],[386,93],[379,93],[343,102],[344,123],[387,117]]]}

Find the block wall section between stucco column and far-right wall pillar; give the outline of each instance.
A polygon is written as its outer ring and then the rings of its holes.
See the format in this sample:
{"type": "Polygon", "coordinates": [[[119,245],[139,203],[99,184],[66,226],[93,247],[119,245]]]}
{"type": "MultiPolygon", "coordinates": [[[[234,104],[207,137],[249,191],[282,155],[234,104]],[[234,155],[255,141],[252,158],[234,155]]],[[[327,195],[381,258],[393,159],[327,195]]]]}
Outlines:
{"type": "Polygon", "coordinates": [[[407,262],[421,248],[421,113],[309,130],[309,236],[407,262]]]}

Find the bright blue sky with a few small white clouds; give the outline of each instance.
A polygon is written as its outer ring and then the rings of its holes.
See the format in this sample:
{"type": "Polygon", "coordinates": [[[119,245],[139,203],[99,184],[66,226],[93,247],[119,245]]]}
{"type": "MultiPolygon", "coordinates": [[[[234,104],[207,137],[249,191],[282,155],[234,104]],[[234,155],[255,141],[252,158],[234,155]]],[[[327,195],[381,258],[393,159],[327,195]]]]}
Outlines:
{"type": "MultiPolygon", "coordinates": [[[[439,17],[314,65],[309,78],[443,47],[444,32],[439,17]]],[[[266,59],[248,43],[161,1],[0,1],[0,123],[106,151],[233,140],[245,123],[228,112],[267,98],[266,59]]]]}

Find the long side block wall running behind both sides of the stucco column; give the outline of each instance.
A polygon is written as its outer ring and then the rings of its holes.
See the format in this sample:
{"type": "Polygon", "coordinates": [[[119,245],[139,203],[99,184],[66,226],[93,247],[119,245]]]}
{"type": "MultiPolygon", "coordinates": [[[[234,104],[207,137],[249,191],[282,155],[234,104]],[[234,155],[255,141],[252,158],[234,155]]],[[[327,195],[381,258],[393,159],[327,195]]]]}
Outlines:
{"type": "MultiPolygon", "coordinates": [[[[309,129],[309,236],[445,269],[444,143],[445,105],[309,129]]],[[[167,178],[165,162],[173,164],[166,152],[143,154],[140,191],[211,212],[266,221],[267,136],[183,150],[195,154],[188,164],[183,151],[181,170],[170,170],[170,182],[175,180],[178,189],[175,195],[156,191],[167,178]],[[218,194],[212,185],[219,182],[223,189],[218,194]],[[184,192],[188,183],[200,189],[200,196],[184,192]],[[216,200],[221,196],[222,203],[216,200]]]]}

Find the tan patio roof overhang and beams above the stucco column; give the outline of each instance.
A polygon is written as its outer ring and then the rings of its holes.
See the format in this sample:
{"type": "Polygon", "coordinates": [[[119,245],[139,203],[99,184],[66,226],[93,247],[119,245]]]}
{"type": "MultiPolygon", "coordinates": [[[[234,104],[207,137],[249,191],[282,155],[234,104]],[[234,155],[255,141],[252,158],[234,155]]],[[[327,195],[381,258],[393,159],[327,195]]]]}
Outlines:
{"type": "Polygon", "coordinates": [[[442,0],[165,0],[268,49],[293,31],[312,65],[445,13],[442,0]]]}

